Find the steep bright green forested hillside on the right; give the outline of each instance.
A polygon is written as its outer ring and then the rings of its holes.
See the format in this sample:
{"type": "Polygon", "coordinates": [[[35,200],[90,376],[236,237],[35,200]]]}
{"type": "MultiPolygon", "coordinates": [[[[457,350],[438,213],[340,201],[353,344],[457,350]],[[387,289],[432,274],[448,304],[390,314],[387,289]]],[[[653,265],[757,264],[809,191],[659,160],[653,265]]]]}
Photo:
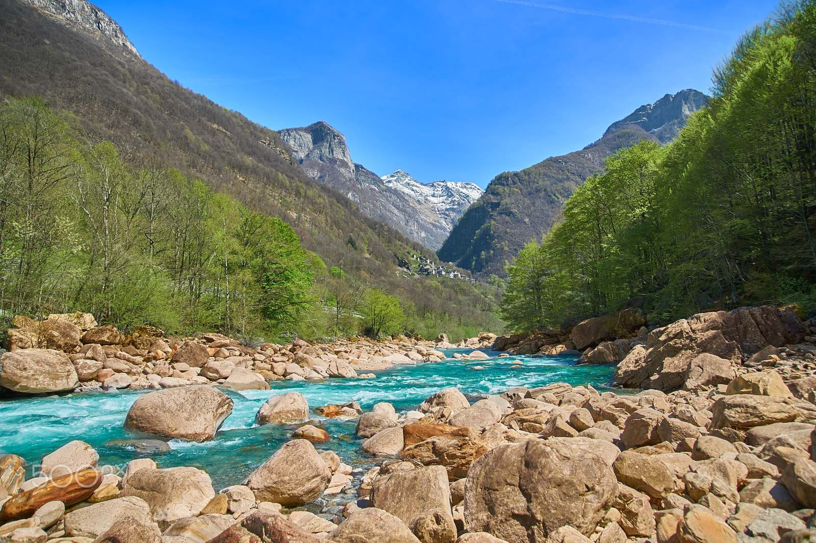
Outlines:
{"type": "Polygon", "coordinates": [[[816,4],[743,36],[674,143],[606,161],[508,266],[517,329],[643,296],[652,323],[794,303],[816,312],[816,4]]]}

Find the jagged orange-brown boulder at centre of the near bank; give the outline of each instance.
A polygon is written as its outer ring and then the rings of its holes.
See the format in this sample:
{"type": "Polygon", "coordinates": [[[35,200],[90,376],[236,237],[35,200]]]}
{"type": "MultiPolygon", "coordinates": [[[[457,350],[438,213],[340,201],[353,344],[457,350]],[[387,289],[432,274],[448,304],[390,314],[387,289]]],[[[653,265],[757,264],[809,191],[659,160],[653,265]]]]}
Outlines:
{"type": "Polygon", "coordinates": [[[420,461],[424,466],[443,466],[450,480],[456,480],[467,477],[473,461],[487,450],[478,432],[466,426],[406,447],[401,457],[420,461]]]}

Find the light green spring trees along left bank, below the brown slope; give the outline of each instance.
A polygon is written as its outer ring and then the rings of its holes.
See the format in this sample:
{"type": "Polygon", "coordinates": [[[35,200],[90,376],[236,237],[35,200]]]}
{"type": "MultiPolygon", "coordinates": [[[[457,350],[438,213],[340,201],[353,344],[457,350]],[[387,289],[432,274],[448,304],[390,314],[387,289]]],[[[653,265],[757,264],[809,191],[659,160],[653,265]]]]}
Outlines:
{"type": "MultiPolygon", "coordinates": [[[[500,326],[489,303],[485,322],[468,308],[489,285],[403,278],[406,289],[366,280],[353,259],[327,268],[288,223],[157,161],[135,168],[113,143],[71,130],[71,117],[36,97],[0,104],[5,320],[87,311],[123,329],[250,339],[500,326]]],[[[367,251],[371,241],[346,244],[367,251]]]]}

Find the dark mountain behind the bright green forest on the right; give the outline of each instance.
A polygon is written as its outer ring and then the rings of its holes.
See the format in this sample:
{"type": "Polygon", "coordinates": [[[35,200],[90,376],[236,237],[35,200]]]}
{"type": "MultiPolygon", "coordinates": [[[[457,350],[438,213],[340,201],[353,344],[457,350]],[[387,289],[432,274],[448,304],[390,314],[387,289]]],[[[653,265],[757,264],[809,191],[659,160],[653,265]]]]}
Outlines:
{"type": "Polygon", "coordinates": [[[665,95],[614,122],[601,139],[580,151],[497,175],[459,219],[437,255],[477,276],[503,276],[505,261],[549,231],[574,189],[603,171],[606,157],[641,139],[672,141],[707,99],[693,89],[665,95]]]}

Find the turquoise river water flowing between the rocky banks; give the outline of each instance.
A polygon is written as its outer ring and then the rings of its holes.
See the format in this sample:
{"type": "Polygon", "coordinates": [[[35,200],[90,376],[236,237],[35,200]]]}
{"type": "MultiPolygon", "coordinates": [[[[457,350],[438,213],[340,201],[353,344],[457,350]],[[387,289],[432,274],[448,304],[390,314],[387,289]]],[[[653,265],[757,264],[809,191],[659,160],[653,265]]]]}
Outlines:
{"type": "MultiPolygon", "coordinates": [[[[450,357],[464,349],[445,351],[450,357]]],[[[186,443],[172,439],[171,451],[138,453],[135,449],[110,443],[122,439],[156,439],[122,429],[131,404],[147,391],[72,393],[0,400],[0,454],[14,453],[29,463],[73,439],[82,439],[100,453],[100,466],[126,465],[138,457],[150,456],[159,467],[195,466],[206,470],[215,488],[240,483],[277,448],[286,443],[294,426],[255,426],[255,413],[272,394],[298,391],[311,408],[357,401],[368,410],[377,402],[391,402],[397,413],[415,408],[429,395],[456,386],[471,402],[480,395],[500,394],[513,386],[544,386],[552,382],[590,384],[604,388],[614,373],[612,366],[576,366],[575,358],[550,356],[509,356],[486,351],[489,360],[460,361],[448,358],[440,363],[404,364],[376,372],[374,379],[330,379],[326,382],[277,381],[272,391],[235,392],[221,388],[234,401],[233,413],[206,443],[186,443]],[[512,368],[521,364],[520,368],[512,368]],[[485,369],[471,369],[473,366],[485,369]]],[[[317,417],[313,411],[316,420],[317,417]]],[[[371,460],[360,450],[354,436],[357,421],[322,420],[333,436],[317,448],[331,449],[352,466],[366,467],[371,460]]],[[[31,476],[29,473],[27,476],[31,476]]]]}

